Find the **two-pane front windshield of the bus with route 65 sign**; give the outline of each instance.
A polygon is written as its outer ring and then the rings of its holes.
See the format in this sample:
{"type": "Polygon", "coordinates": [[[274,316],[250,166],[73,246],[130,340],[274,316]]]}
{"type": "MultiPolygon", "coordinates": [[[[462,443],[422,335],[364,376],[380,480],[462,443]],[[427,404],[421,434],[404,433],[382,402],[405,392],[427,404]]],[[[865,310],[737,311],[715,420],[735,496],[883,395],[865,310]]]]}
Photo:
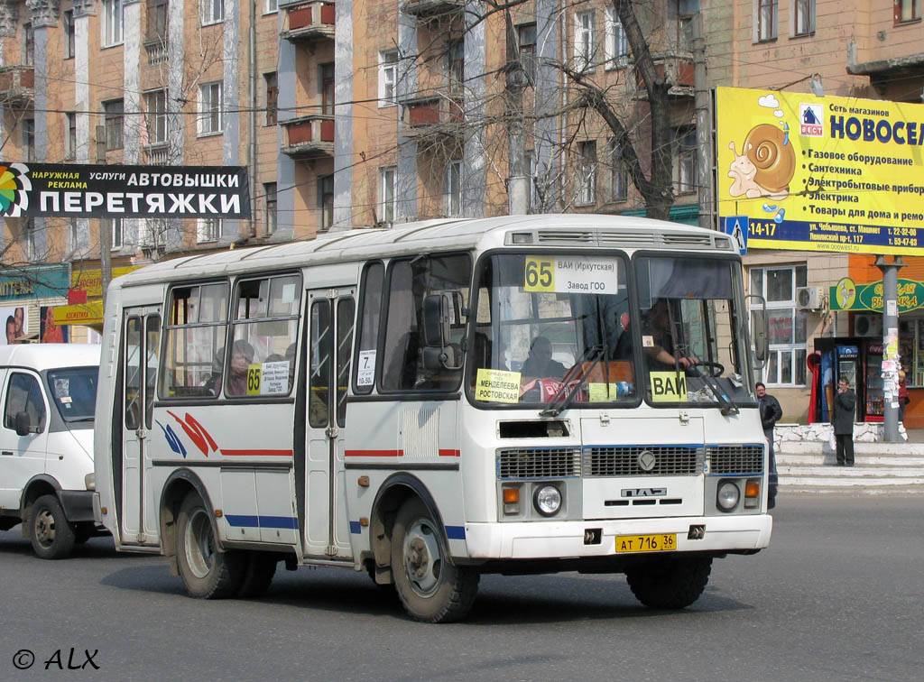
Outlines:
{"type": "Polygon", "coordinates": [[[468,389],[483,407],[751,402],[731,260],[495,254],[482,260],[468,389]]]}

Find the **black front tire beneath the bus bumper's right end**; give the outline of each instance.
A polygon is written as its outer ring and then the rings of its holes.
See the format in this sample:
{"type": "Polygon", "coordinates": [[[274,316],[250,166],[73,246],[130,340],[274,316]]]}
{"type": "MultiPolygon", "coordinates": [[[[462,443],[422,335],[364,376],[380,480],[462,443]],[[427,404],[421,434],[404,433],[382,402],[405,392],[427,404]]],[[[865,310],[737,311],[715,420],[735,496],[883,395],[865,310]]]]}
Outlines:
{"type": "Polygon", "coordinates": [[[626,570],[639,602],[652,609],[683,609],[699,599],[712,570],[711,557],[674,556],[626,570]]]}

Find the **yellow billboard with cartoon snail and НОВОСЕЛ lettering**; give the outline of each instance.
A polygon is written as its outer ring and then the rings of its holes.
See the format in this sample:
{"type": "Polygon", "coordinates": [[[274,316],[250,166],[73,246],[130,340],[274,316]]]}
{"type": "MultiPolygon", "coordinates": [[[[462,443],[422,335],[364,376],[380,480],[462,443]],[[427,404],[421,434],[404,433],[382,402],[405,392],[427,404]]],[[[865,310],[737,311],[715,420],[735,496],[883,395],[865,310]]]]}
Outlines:
{"type": "Polygon", "coordinates": [[[749,249],[924,255],[924,105],[716,88],[719,225],[749,249]]]}

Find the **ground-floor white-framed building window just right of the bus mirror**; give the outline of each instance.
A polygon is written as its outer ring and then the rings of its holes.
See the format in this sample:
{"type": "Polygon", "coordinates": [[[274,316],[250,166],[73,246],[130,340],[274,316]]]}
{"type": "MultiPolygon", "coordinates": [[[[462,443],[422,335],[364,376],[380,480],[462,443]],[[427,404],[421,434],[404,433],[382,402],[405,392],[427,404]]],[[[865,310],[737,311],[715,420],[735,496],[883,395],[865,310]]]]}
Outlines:
{"type": "Polygon", "coordinates": [[[770,356],[758,375],[768,386],[806,384],[806,313],[796,307],[796,289],[806,286],[806,272],[805,265],[750,269],[748,293],[767,300],[770,356]]]}

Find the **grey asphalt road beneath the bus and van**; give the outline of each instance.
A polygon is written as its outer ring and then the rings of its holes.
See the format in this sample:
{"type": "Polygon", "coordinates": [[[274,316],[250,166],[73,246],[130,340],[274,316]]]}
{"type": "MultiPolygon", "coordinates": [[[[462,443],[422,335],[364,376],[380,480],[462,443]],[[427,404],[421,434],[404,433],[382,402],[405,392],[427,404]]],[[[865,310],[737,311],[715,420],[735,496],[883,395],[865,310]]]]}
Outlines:
{"type": "Polygon", "coordinates": [[[446,626],[408,620],[365,574],[280,565],[265,598],[201,602],[161,557],[95,539],[45,562],[17,528],[0,532],[0,680],[924,676],[924,497],[781,493],[774,516],[771,547],[716,561],[685,611],[645,609],[622,576],[486,576],[446,626]]]}

